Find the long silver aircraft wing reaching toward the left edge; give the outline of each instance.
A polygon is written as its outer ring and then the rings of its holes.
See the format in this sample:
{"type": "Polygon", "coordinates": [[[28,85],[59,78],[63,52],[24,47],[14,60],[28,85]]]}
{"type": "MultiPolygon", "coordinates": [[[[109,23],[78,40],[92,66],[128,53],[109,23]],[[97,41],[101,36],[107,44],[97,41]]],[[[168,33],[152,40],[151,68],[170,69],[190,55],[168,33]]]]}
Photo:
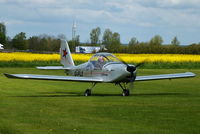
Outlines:
{"type": "Polygon", "coordinates": [[[99,77],[76,77],[76,76],[56,76],[56,75],[35,75],[35,74],[4,74],[8,78],[18,79],[38,79],[57,81],[77,81],[77,82],[103,82],[99,77]]]}

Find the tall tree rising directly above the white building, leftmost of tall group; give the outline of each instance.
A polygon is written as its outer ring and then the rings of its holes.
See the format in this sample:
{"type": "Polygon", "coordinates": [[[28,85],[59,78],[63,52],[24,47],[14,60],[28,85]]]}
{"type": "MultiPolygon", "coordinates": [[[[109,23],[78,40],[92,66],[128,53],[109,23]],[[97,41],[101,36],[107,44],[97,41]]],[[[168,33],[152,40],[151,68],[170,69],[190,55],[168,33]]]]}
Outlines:
{"type": "Polygon", "coordinates": [[[99,36],[101,34],[101,29],[99,27],[92,29],[90,32],[91,44],[98,44],[100,42],[99,36]]]}

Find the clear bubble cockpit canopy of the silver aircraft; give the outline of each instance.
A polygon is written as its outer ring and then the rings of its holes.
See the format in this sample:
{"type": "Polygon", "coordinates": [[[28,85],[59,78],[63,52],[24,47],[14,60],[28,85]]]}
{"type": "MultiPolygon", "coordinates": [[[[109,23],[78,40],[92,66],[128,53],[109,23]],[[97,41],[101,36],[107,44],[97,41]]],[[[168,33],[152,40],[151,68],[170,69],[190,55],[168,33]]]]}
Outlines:
{"type": "Polygon", "coordinates": [[[108,62],[120,62],[120,60],[110,53],[96,53],[89,60],[89,66],[93,69],[102,69],[108,62]]]}

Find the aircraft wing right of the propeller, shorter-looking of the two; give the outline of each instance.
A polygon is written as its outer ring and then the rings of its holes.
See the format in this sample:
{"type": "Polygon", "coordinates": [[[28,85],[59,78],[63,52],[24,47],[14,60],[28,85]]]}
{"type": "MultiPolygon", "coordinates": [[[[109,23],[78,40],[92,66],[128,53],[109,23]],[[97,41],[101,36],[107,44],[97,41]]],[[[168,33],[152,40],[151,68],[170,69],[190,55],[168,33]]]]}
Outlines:
{"type": "Polygon", "coordinates": [[[176,78],[186,78],[186,77],[195,77],[195,76],[196,75],[192,72],[177,73],[177,74],[148,75],[148,76],[137,76],[135,81],[176,79],[176,78]]]}

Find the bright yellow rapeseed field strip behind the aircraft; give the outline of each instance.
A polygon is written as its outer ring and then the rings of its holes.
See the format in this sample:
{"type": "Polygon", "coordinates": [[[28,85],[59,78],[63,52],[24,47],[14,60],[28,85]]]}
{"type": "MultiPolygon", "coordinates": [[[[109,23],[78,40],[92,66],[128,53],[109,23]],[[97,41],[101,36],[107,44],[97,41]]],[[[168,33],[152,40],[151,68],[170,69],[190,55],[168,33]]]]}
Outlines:
{"type": "MultiPolygon", "coordinates": [[[[115,54],[128,63],[140,62],[200,62],[200,55],[183,54],[115,54]]],[[[87,61],[92,54],[72,54],[75,61],[87,61]]],[[[24,52],[0,53],[0,61],[59,61],[59,54],[34,54],[24,52]]]]}

